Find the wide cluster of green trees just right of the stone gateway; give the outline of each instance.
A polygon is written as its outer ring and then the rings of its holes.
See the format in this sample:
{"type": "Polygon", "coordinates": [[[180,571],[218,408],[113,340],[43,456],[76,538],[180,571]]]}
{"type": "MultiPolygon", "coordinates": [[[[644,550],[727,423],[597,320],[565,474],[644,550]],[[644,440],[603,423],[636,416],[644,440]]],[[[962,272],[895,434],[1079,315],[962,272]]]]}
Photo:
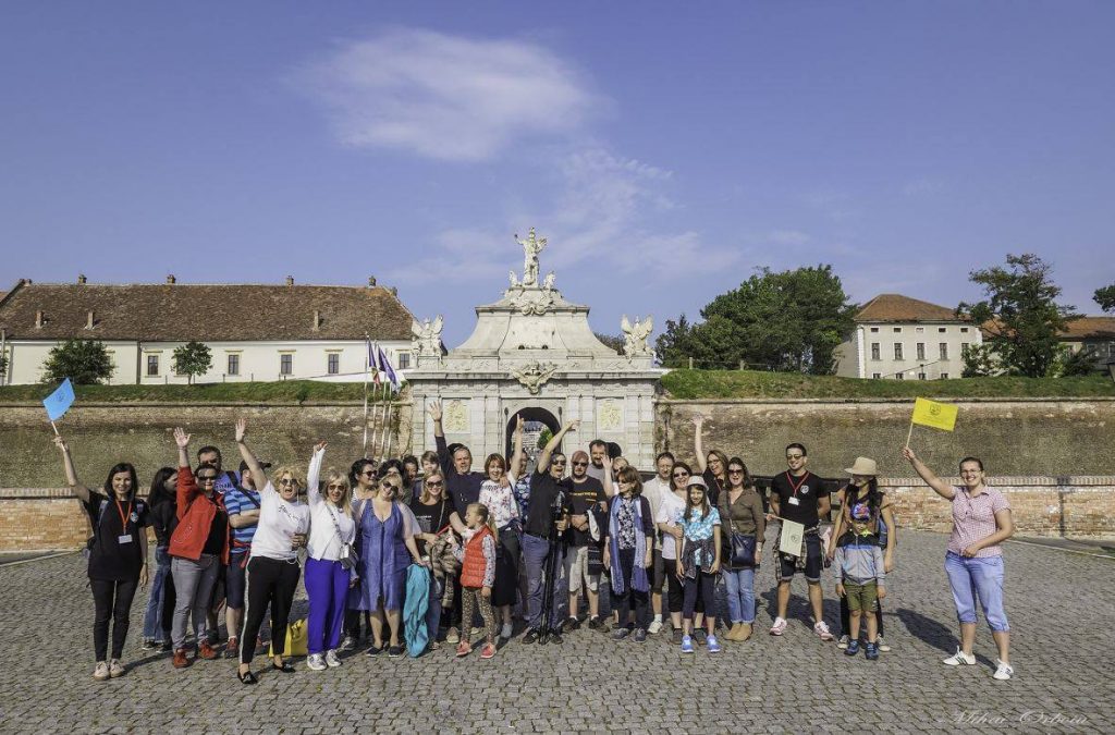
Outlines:
{"type": "Polygon", "coordinates": [[[832,265],[764,268],[701,310],[687,346],[702,366],[828,375],[855,309],[832,265]]]}

